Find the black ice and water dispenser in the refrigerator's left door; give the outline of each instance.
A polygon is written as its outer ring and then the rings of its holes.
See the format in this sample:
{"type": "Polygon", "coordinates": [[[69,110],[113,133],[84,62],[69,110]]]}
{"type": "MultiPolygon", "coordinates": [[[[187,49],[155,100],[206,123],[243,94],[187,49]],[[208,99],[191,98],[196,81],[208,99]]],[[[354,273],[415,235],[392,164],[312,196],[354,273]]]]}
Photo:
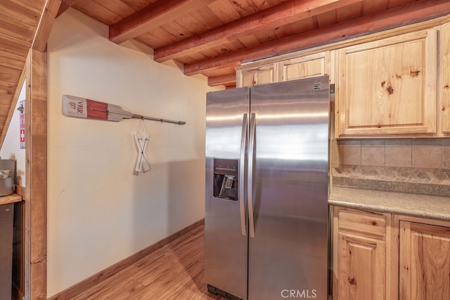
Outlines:
{"type": "Polygon", "coordinates": [[[238,159],[214,159],[215,198],[238,200],[238,159]]]}

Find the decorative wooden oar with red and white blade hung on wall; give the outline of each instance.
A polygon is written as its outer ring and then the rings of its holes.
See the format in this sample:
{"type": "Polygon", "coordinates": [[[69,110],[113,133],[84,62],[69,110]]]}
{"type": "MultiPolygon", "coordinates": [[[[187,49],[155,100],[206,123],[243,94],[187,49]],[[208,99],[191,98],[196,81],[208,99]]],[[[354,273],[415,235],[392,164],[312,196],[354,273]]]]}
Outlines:
{"type": "Polygon", "coordinates": [[[150,121],[172,123],[184,125],[186,122],[174,121],[169,119],[160,119],[155,117],[146,117],[136,115],[127,110],[122,110],[119,105],[99,102],[91,99],[64,95],[63,113],[70,117],[79,117],[84,119],[103,119],[107,121],[119,122],[121,119],[146,119],[150,121]]]}

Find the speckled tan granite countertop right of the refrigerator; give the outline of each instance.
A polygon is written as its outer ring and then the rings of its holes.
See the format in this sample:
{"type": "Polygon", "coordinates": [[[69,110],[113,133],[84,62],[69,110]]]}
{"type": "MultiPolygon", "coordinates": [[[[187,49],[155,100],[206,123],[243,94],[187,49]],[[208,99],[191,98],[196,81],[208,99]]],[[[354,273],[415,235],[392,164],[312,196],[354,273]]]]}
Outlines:
{"type": "Polygon", "coordinates": [[[333,186],[328,204],[450,221],[450,197],[333,186]]]}

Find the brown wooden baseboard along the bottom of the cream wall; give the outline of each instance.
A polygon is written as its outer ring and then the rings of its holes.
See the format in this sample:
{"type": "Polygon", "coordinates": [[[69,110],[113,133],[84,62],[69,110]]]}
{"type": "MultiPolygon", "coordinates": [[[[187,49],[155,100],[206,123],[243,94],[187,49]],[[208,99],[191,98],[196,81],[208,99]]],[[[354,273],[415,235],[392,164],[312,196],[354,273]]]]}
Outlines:
{"type": "Polygon", "coordinates": [[[113,266],[101,270],[100,272],[92,275],[91,277],[86,278],[82,282],[78,282],[76,285],[72,285],[72,287],[65,289],[63,292],[59,292],[58,294],[51,296],[49,300],[71,299],[72,297],[77,296],[78,294],[81,294],[82,292],[86,291],[86,289],[90,289],[91,287],[94,287],[94,285],[97,285],[103,280],[110,278],[110,276],[114,275],[120,270],[123,270],[124,268],[127,268],[136,261],[139,261],[139,259],[142,259],[148,254],[155,252],[161,247],[164,247],[166,244],[169,244],[169,242],[172,242],[176,240],[178,237],[181,237],[181,235],[185,235],[194,228],[197,228],[198,226],[202,226],[204,224],[205,219],[201,219],[200,221],[197,221],[192,225],[179,230],[173,235],[169,235],[165,239],[162,239],[159,242],[156,242],[155,244],[152,244],[149,247],[142,249],[141,251],[136,252],[131,256],[128,256],[126,259],[122,259],[122,261],[113,264],[113,266]]]}

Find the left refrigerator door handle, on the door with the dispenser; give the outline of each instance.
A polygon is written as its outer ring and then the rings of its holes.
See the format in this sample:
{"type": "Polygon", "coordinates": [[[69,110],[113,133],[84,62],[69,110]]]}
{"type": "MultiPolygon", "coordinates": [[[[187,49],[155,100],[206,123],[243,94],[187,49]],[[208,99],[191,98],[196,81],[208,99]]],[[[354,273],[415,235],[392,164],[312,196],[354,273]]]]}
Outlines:
{"type": "Polygon", "coordinates": [[[240,140],[240,162],[239,162],[239,209],[240,230],[242,235],[247,235],[247,224],[245,223],[245,150],[247,150],[248,114],[243,115],[242,135],[240,140]]]}

